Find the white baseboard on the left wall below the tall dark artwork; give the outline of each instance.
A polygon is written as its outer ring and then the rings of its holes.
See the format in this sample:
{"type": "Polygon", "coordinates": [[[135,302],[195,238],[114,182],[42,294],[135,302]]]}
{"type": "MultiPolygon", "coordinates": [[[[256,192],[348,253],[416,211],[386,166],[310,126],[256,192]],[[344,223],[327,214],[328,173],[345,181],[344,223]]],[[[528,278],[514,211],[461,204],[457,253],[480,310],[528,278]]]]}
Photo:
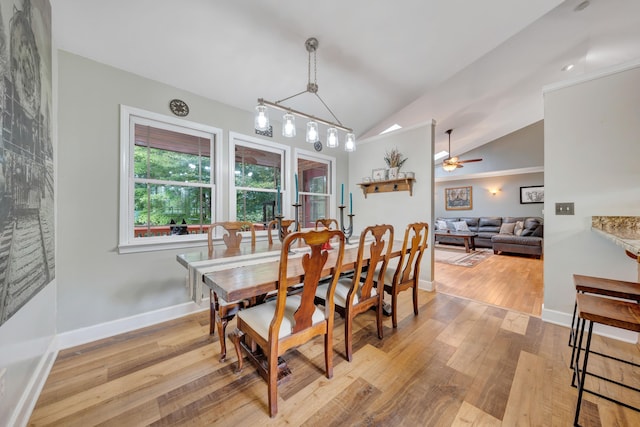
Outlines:
{"type": "Polygon", "coordinates": [[[31,378],[29,378],[29,382],[20,396],[20,400],[14,408],[13,414],[9,417],[10,426],[24,427],[29,422],[33,408],[36,407],[38,397],[40,397],[40,392],[49,377],[49,372],[51,372],[56,357],[58,357],[57,348],[57,338],[53,337],[46,353],[42,356],[40,362],[38,362],[38,366],[33,371],[31,378]]]}

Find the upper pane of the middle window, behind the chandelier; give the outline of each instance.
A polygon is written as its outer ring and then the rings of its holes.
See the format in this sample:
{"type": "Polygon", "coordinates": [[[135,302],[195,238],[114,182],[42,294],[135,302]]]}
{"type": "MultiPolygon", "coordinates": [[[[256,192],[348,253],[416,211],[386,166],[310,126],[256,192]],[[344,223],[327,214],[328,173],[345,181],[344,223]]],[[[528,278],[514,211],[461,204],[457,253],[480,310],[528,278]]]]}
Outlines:
{"type": "Polygon", "coordinates": [[[276,189],[280,181],[281,154],[236,144],[236,187],[276,189]]]}

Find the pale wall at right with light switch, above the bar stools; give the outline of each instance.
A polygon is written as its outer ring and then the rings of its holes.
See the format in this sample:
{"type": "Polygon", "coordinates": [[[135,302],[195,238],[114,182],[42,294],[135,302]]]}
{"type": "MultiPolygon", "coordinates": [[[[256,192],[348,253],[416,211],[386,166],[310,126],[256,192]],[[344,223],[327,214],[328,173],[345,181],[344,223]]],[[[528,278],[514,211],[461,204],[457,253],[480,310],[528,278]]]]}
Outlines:
{"type": "Polygon", "coordinates": [[[637,262],[591,231],[594,215],[640,215],[640,61],[545,88],[543,319],[566,321],[574,273],[638,280],[637,262]],[[575,215],[552,206],[574,202],[575,215]]]}

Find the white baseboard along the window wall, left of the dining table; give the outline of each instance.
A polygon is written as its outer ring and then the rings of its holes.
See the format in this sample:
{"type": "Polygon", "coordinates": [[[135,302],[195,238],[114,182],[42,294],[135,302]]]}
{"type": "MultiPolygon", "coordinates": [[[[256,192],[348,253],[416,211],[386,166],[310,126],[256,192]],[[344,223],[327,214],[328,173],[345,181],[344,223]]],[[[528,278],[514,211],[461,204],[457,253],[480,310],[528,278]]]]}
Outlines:
{"type": "Polygon", "coordinates": [[[73,331],[58,334],[59,349],[64,350],[77,345],[86,344],[114,335],[130,332],[156,323],[177,319],[188,314],[209,309],[209,298],[203,298],[200,305],[195,302],[174,305],[172,307],[161,308],[147,313],[137,314],[131,317],[101,323],[99,325],[88,326],[73,331]]]}

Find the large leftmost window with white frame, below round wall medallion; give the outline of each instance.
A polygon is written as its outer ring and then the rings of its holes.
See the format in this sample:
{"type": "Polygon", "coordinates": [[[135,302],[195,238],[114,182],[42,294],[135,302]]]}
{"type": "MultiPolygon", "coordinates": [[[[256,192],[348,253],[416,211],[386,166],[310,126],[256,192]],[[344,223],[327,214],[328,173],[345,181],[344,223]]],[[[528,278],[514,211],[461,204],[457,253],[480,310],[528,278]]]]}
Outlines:
{"type": "Polygon", "coordinates": [[[221,132],[121,107],[120,251],[192,246],[216,217],[221,132]]]}

